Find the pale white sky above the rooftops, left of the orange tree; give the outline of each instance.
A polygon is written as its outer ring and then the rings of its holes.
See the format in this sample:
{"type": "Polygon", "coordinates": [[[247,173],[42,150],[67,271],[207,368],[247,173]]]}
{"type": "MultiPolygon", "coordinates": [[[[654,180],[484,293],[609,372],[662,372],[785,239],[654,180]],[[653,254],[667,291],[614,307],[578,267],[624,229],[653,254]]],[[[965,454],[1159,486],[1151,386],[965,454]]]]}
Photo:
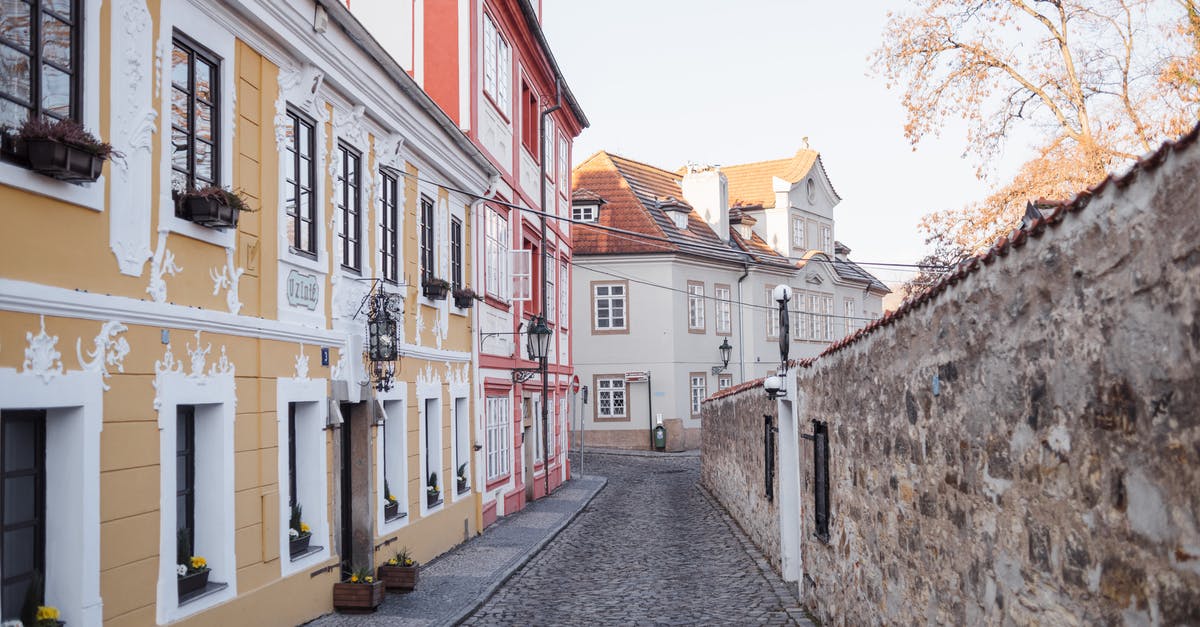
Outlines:
{"type": "MultiPolygon", "coordinates": [[[[986,195],[965,127],[904,138],[902,92],[870,76],[899,0],[544,0],[544,29],[592,127],[576,162],[608,150],[674,169],[791,156],[809,138],[842,202],[858,261],[917,261],[917,223],[986,195]]],[[[1018,147],[1014,147],[1018,148],[1018,147]]],[[[995,180],[1009,175],[1014,149],[995,180]]],[[[870,268],[884,281],[906,274],[870,268]]]]}

